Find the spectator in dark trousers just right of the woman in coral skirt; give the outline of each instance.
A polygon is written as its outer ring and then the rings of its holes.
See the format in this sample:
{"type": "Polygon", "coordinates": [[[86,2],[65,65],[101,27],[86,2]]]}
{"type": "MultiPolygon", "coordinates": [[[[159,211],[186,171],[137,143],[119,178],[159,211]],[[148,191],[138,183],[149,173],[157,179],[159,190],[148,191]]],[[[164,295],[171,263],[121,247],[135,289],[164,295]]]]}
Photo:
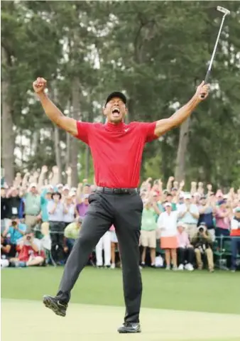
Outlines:
{"type": "Polygon", "coordinates": [[[195,252],[190,244],[190,241],[188,239],[187,232],[185,229],[187,228],[187,225],[184,224],[184,222],[178,222],[178,233],[177,233],[177,239],[178,239],[178,270],[186,269],[188,271],[193,271],[194,268],[192,266],[195,252]],[[185,262],[187,264],[185,264],[185,262]]]}

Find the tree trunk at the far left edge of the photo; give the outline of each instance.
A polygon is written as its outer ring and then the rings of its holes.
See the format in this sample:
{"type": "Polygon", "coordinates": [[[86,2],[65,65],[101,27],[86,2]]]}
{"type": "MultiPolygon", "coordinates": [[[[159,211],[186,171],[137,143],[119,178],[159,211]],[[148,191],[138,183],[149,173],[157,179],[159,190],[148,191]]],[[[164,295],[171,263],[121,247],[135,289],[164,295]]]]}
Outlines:
{"type": "MultiPolygon", "coordinates": [[[[7,63],[7,55],[1,48],[2,62],[7,63]]],[[[13,131],[13,118],[11,114],[11,102],[9,99],[9,79],[4,70],[2,71],[1,93],[2,93],[2,163],[4,166],[5,182],[11,185],[14,180],[14,148],[15,136],[13,131]]]]}

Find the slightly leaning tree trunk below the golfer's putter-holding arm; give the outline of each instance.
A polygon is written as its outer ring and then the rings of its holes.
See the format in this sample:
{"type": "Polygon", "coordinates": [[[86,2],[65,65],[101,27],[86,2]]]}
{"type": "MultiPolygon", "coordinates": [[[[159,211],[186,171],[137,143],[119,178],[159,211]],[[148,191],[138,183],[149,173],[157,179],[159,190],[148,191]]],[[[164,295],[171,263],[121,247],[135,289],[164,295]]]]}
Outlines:
{"type": "Polygon", "coordinates": [[[190,117],[180,126],[180,136],[178,141],[178,155],[175,166],[175,180],[185,179],[185,156],[187,154],[187,143],[190,129],[190,117]]]}

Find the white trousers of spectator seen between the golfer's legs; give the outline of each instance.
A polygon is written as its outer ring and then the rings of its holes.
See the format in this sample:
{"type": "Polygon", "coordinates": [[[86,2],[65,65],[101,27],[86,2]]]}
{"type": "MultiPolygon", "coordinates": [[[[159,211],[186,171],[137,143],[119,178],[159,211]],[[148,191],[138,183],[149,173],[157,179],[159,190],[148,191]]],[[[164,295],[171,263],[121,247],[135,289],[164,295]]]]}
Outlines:
{"type": "Polygon", "coordinates": [[[96,259],[97,267],[102,268],[102,249],[104,249],[104,266],[109,268],[111,266],[111,232],[107,231],[96,245],[96,259]]]}

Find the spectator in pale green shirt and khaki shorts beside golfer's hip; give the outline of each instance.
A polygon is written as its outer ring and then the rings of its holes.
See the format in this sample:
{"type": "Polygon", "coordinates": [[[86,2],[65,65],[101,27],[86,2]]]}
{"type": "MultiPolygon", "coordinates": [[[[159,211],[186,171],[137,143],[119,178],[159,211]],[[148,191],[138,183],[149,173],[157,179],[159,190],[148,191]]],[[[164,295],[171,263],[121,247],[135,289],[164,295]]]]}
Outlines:
{"type": "Polygon", "coordinates": [[[155,266],[156,261],[156,210],[151,205],[151,200],[146,200],[143,205],[143,215],[141,220],[141,245],[143,253],[141,256],[141,265],[145,266],[146,249],[150,248],[151,266],[155,266]]]}

